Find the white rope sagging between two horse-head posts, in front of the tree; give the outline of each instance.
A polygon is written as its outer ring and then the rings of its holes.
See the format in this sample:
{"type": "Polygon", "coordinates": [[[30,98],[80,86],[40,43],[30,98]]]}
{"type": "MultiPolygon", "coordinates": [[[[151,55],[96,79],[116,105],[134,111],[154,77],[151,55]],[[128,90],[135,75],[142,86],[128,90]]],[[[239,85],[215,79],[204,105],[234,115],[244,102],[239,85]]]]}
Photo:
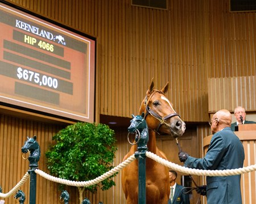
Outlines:
{"type": "Polygon", "coordinates": [[[105,180],[106,178],[114,175],[114,173],[119,172],[122,168],[126,167],[128,164],[133,162],[135,159],[136,158],[133,154],[129,158],[127,158],[125,161],[123,161],[121,164],[117,165],[117,167],[114,167],[110,171],[108,171],[108,172],[104,173],[103,175],[97,177],[96,179],[93,179],[90,181],[70,181],[70,180],[66,180],[66,179],[60,179],[60,178],[48,175],[47,173],[45,173],[39,169],[35,169],[35,172],[47,180],[50,180],[53,182],[58,182],[60,184],[65,184],[65,185],[69,185],[69,186],[77,186],[77,187],[90,186],[90,185],[98,184],[99,182],[105,180]]]}

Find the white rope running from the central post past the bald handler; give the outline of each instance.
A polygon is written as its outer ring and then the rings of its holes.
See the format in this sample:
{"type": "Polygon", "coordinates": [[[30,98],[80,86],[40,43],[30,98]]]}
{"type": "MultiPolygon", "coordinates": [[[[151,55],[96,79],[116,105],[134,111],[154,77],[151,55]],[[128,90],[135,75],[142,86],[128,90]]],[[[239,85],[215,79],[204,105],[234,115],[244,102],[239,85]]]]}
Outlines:
{"type": "Polygon", "coordinates": [[[237,169],[226,169],[226,170],[202,170],[202,169],[192,169],[187,167],[181,167],[178,164],[168,162],[166,159],[160,158],[160,156],[155,155],[150,151],[146,151],[146,156],[156,162],[165,165],[168,168],[174,169],[182,173],[188,173],[189,175],[197,176],[233,176],[241,175],[242,173],[253,172],[256,170],[256,164],[250,165],[248,167],[237,168],[237,169]]]}

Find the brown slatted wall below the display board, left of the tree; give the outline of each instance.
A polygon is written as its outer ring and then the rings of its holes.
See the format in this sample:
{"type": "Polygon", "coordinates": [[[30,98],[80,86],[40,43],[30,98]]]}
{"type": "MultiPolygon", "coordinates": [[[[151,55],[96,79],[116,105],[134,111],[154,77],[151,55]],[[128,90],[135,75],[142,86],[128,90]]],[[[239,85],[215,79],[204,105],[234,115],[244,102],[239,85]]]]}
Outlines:
{"type": "MultiPolygon", "coordinates": [[[[5,114],[0,114],[0,124],[0,186],[2,187],[2,192],[7,193],[22,179],[29,169],[28,160],[22,159],[21,151],[27,137],[36,135],[42,151],[38,163],[39,169],[47,172],[44,153],[52,143],[52,136],[63,126],[27,121],[5,114]]],[[[27,155],[24,156],[26,157],[27,155]]],[[[28,201],[29,181],[28,179],[20,188],[20,190],[26,193],[28,201]]],[[[57,203],[60,196],[56,184],[39,176],[37,179],[36,195],[37,203],[57,203]],[[51,202],[53,199],[55,202],[51,202]]],[[[5,201],[6,203],[15,203],[14,196],[6,198],[5,201]]]]}

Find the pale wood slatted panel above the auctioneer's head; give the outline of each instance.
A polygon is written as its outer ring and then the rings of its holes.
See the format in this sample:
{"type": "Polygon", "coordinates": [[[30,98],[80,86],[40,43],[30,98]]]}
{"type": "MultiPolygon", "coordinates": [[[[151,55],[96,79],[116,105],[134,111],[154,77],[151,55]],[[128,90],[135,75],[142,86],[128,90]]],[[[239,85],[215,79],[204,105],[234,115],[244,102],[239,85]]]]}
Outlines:
{"type": "Polygon", "coordinates": [[[246,111],[256,109],[256,76],[208,79],[209,112],[220,109],[234,111],[242,106],[246,111]]]}

